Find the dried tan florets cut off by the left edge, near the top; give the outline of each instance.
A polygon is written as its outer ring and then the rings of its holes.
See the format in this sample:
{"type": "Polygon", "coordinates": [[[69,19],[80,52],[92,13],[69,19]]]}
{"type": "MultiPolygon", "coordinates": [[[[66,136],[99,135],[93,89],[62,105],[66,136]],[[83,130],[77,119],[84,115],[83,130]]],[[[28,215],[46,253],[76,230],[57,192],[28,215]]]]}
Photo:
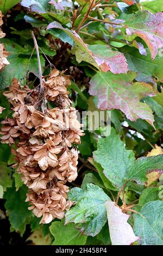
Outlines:
{"type": "MultiPolygon", "coordinates": [[[[0,26],[3,25],[2,20],[3,14],[0,10],[0,26]]],[[[0,28],[0,38],[4,38],[5,33],[3,33],[2,29],[0,28]]],[[[5,66],[9,65],[10,63],[7,60],[7,57],[9,56],[9,52],[5,51],[4,44],[0,44],[0,70],[5,66]]]]}

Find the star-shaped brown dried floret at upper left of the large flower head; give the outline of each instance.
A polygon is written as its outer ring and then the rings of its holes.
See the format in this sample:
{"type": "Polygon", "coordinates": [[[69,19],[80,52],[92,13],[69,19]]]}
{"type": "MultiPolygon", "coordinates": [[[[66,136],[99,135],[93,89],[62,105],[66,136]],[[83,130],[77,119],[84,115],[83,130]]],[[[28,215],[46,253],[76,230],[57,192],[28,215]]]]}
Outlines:
{"type": "Polygon", "coordinates": [[[28,91],[28,88],[21,89],[20,82],[16,78],[13,78],[9,91],[4,92],[3,95],[15,106],[16,104],[24,104],[24,97],[27,96],[28,91]]]}

